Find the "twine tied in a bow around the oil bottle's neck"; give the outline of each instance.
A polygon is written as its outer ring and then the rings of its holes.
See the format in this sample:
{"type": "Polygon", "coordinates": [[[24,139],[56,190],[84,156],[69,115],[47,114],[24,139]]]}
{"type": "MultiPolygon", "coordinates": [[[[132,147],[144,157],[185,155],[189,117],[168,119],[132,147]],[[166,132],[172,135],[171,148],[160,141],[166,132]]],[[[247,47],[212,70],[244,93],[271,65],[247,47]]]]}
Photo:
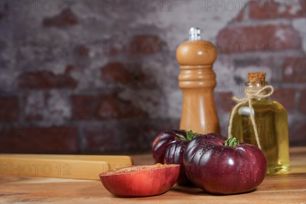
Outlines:
{"type": "Polygon", "coordinates": [[[244,98],[237,98],[237,97],[233,96],[232,99],[235,100],[236,102],[238,102],[238,104],[236,104],[236,106],[233,108],[232,113],[231,113],[230,125],[228,126],[228,138],[233,138],[233,135],[232,135],[232,126],[233,125],[232,124],[233,124],[234,115],[235,115],[237,109],[239,108],[240,105],[242,105],[244,103],[248,103],[248,106],[249,106],[249,109],[250,109],[250,118],[251,118],[251,122],[252,122],[252,125],[253,125],[257,146],[261,149],[259,136],[258,136],[258,130],[257,130],[257,126],[256,126],[256,123],[255,123],[255,118],[254,118],[254,114],[253,114],[253,107],[252,107],[251,101],[252,101],[252,99],[260,99],[260,98],[269,97],[270,95],[272,95],[273,92],[274,92],[274,88],[271,85],[268,85],[268,86],[264,86],[264,87],[260,88],[257,91],[254,91],[253,93],[249,93],[249,92],[245,91],[244,98]],[[270,90],[270,91],[267,91],[267,90],[270,90]]]}

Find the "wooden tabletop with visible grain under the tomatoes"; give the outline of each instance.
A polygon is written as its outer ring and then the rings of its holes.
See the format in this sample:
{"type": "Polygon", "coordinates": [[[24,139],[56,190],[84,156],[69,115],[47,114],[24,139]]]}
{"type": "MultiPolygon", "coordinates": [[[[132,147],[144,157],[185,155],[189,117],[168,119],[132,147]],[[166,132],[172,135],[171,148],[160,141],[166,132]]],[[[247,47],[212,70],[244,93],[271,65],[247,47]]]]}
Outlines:
{"type": "MultiPolygon", "coordinates": [[[[152,163],[149,155],[132,157],[135,164],[152,163]]],[[[256,190],[238,195],[213,195],[174,185],[158,196],[121,198],[110,194],[100,181],[1,175],[0,203],[305,203],[306,147],[291,148],[290,159],[287,173],[266,176],[256,190]]]]}

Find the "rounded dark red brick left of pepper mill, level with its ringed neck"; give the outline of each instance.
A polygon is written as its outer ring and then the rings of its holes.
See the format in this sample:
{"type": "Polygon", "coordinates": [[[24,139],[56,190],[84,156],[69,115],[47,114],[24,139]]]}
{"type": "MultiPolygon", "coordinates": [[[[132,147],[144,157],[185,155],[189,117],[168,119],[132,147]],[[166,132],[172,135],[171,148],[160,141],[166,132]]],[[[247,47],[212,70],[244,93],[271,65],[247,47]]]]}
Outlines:
{"type": "Polygon", "coordinates": [[[101,77],[106,82],[131,83],[134,74],[124,65],[118,62],[111,62],[101,68],[101,77]]]}

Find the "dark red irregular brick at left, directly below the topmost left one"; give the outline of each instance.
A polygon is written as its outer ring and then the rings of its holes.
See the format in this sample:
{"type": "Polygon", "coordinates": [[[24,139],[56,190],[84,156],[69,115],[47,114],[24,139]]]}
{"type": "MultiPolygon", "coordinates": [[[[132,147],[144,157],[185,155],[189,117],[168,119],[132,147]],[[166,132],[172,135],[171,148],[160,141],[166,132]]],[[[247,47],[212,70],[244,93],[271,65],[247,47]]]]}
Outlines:
{"type": "Polygon", "coordinates": [[[51,88],[72,88],[77,87],[77,81],[72,79],[66,74],[54,74],[50,71],[37,71],[37,72],[23,72],[18,77],[18,83],[24,87],[24,90],[32,89],[46,89],[49,91],[51,88]]]}

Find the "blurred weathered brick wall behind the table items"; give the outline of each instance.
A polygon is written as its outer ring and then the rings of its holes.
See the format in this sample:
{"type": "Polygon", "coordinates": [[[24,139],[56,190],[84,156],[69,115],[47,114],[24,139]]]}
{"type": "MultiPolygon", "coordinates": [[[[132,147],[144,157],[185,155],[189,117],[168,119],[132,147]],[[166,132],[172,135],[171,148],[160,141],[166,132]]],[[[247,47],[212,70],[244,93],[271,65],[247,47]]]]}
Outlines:
{"type": "Polygon", "coordinates": [[[175,59],[190,27],[218,48],[215,101],[267,72],[305,145],[305,1],[1,1],[1,152],[149,152],[179,128],[175,59]]]}

